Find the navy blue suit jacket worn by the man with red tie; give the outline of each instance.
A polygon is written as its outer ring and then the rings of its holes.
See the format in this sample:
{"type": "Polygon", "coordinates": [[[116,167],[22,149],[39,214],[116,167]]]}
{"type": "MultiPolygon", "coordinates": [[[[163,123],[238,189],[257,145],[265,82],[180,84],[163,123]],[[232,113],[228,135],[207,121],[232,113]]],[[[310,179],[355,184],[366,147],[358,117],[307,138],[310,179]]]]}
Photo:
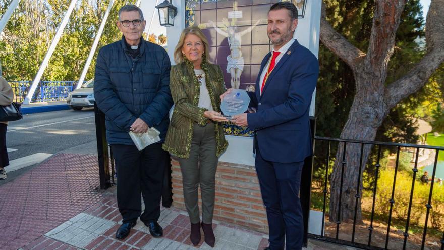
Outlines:
{"type": "Polygon", "coordinates": [[[248,127],[255,131],[255,145],[270,162],[301,162],[313,154],[309,109],[319,74],[317,58],[297,40],[283,55],[260,94],[260,75],[271,52],[262,60],[256,92],[247,92],[250,107],[248,127]]]}

